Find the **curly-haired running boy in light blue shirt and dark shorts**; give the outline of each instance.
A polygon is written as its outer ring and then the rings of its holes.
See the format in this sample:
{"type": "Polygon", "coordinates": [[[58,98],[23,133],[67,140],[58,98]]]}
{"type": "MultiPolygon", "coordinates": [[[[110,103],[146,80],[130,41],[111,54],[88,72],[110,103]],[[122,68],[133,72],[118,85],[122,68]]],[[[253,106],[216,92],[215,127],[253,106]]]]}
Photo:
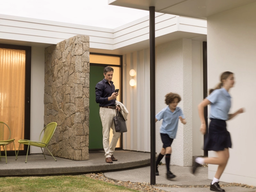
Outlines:
{"type": "Polygon", "coordinates": [[[185,116],[183,115],[182,109],[177,107],[178,103],[181,101],[180,95],[177,93],[168,93],[165,95],[165,103],[168,105],[166,108],[162,109],[156,115],[156,122],[163,119],[163,123],[160,127],[160,135],[163,142],[163,148],[159,153],[159,156],[156,160],[156,175],[159,175],[157,165],[162,160],[165,155],[165,162],[166,162],[166,178],[168,180],[176,177],[170,171],[170,158],[172,153],[172,141],[176,137],[177,129],[178,129],[178,121],[183,124],[186,124],[185,116]]]}

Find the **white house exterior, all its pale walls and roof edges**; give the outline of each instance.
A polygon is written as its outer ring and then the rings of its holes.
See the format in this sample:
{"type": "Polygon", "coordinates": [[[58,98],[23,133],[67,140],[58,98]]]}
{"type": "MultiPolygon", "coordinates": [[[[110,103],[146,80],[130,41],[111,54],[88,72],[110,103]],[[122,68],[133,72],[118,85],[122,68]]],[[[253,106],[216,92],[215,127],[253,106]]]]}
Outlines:
{"type": "MultiPolygon", "coordinates": [[[[136,1],[127,2],[111,0],[109,4],[146,10],[150,6],[148,1],[141,5],[137,5],[136,1]]],[[[158,5],[157,1],[151,2],[158,5]]],[[[240,107],[245,107],[247,111],[228,122],[234,148],[230,150],[231,158],[221,181],[256,185],[256,167],[253,165],[256,157],[253,153],[256,144],[253,133],[256,129],[251,120],[244,121],[246,117],[253,119],[255,105],[251,101],[255,92],[254,86],[248,89],[244,84],[248,82],[253,84],[255,78],[253,74],[255,41],[253,40],[255,40],[256,28],[254,24],[256,3],[252,0],[243,2],[237,0],[236,6],[228,10],[220,9],[219,12],[206,16],[188,12],[187,7],[191,5],[185,4],[186,2],[175,5],[178,6],[177,9],[166,1],[161,4],[160,11],[156,9],[156,113],[166,106],[164,104],[166,93],[179,93],[182,98],[179,106],[183,109],[187,124],[179,124],[177,137],[173,142],[171,164],[191,166],[192,156],[204,155],[203,136],[199,133],[197,104],[203,100],[203,41],[207,41],[208,87],[214,87],[219,82],[221,72],[226,70],[234,72],[237,83],[231,91],[233,97],[231,112],[240,107]],[[241,62],[243,62],[242,66],[241,62]]],[[[122,56],[123,75],[120,91],[123,93],[122,101],[130,112],[127,121],[128,132],[123,134],[122,146],[126,150],[150,151],[148,17],[115,29],[1,14],[0,24],[0,43],[31,46],[31,140],[37,140],[41,131],[36,126],[45,123],[44,71],[45,52],[49,49],[47,47],[56,48],[60,42],[78,35],[89,39],[89,52],[122,56]],[[135,69],[136,76],[129,75],[131,69],[135,69]],[[136,81],[133,87],[129,84],[131,79],[136,81]]],[[[157,153],[162,147],[159,128],[158,122],[157,153]]],[[[31,147],[31,153],[39,152],[38,149],[31,147]]],[[[209,152],[209,155],[213,154],[209,152]]],[[[216,166],[210,165],[210,179],[215,171],[216,166]]]]}

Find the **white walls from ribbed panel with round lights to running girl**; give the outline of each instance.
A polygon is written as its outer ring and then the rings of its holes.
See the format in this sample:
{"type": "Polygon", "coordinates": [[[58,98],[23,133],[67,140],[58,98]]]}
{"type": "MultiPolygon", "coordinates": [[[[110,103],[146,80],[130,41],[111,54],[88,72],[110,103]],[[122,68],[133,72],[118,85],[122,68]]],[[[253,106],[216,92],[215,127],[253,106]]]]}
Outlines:
{"type": "MultiPolygon", "coordinates": [[[[128,132],[124,133],[124,149],[150,152],[149,72],[149,49],[124,55],[124,104],[130,112],[127,121],[128,132]],[[129,85],[132,78],[129,75],[130,69],[135,69],[137,72],[133,77],[137,82],[134,87],[129,85]]],[[[202,43],[179,39],[156,47],[156,113],[166,107],[165,94],[177,92],[182,98],[179,106],[183,109],[188,122],[186,125],[179,123],[177,137],[172,145],[171,164],[192,165],[192,127],[196,129],[196,139],[193,138],[193,145],[196,146],[195,154],[203,153],[202,136],[197,126],[198,121],[200,123],[197,104],[203,98],[201,81],[202,43]],[[192,86],[193,82],[195,84],[192,86]],[[192,116],[193,118],[196,116],[196,120],[192,120],[192,116]]],[[[156,123],[157,153],[163,145],[159,134],[160,125],[161,122],[156,123]]],[[[164,159],[162,162],[165,163],[164,159]]]]}

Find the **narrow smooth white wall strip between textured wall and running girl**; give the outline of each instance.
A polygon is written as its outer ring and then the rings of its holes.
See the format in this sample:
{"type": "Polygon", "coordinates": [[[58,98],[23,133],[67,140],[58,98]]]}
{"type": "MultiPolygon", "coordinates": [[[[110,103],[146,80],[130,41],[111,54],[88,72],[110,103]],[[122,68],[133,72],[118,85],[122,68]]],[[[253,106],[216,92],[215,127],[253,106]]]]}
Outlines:
{"type": "Polygon", "coordinates": [[[199,132],[201,121],[197,105],[203,96],[203,43],[192,41],[192,126],[193,126],[193,156],[203,156],[204,136],[199,132]]]}

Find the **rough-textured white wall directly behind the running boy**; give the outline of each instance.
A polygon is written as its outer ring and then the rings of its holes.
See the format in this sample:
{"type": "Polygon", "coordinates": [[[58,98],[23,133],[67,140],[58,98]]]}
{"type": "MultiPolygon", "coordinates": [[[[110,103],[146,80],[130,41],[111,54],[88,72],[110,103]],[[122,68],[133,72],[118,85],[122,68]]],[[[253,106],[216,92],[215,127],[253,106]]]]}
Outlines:
{"type": "MultiPolygon", "coordinates": [[[[179,122],[172,144],[171,164],[192,165],[192,41],[178,39],[156,47],[156,113],[166,107],[165,95],[176,92],[181,97],[180,106],[187,124],[179,122]]],[[[156,151],[163,144],[160,138],[162,121],[156,123],[156,151]]],[[[164,162],[164,160],[163,160],[164,162]]]]}

